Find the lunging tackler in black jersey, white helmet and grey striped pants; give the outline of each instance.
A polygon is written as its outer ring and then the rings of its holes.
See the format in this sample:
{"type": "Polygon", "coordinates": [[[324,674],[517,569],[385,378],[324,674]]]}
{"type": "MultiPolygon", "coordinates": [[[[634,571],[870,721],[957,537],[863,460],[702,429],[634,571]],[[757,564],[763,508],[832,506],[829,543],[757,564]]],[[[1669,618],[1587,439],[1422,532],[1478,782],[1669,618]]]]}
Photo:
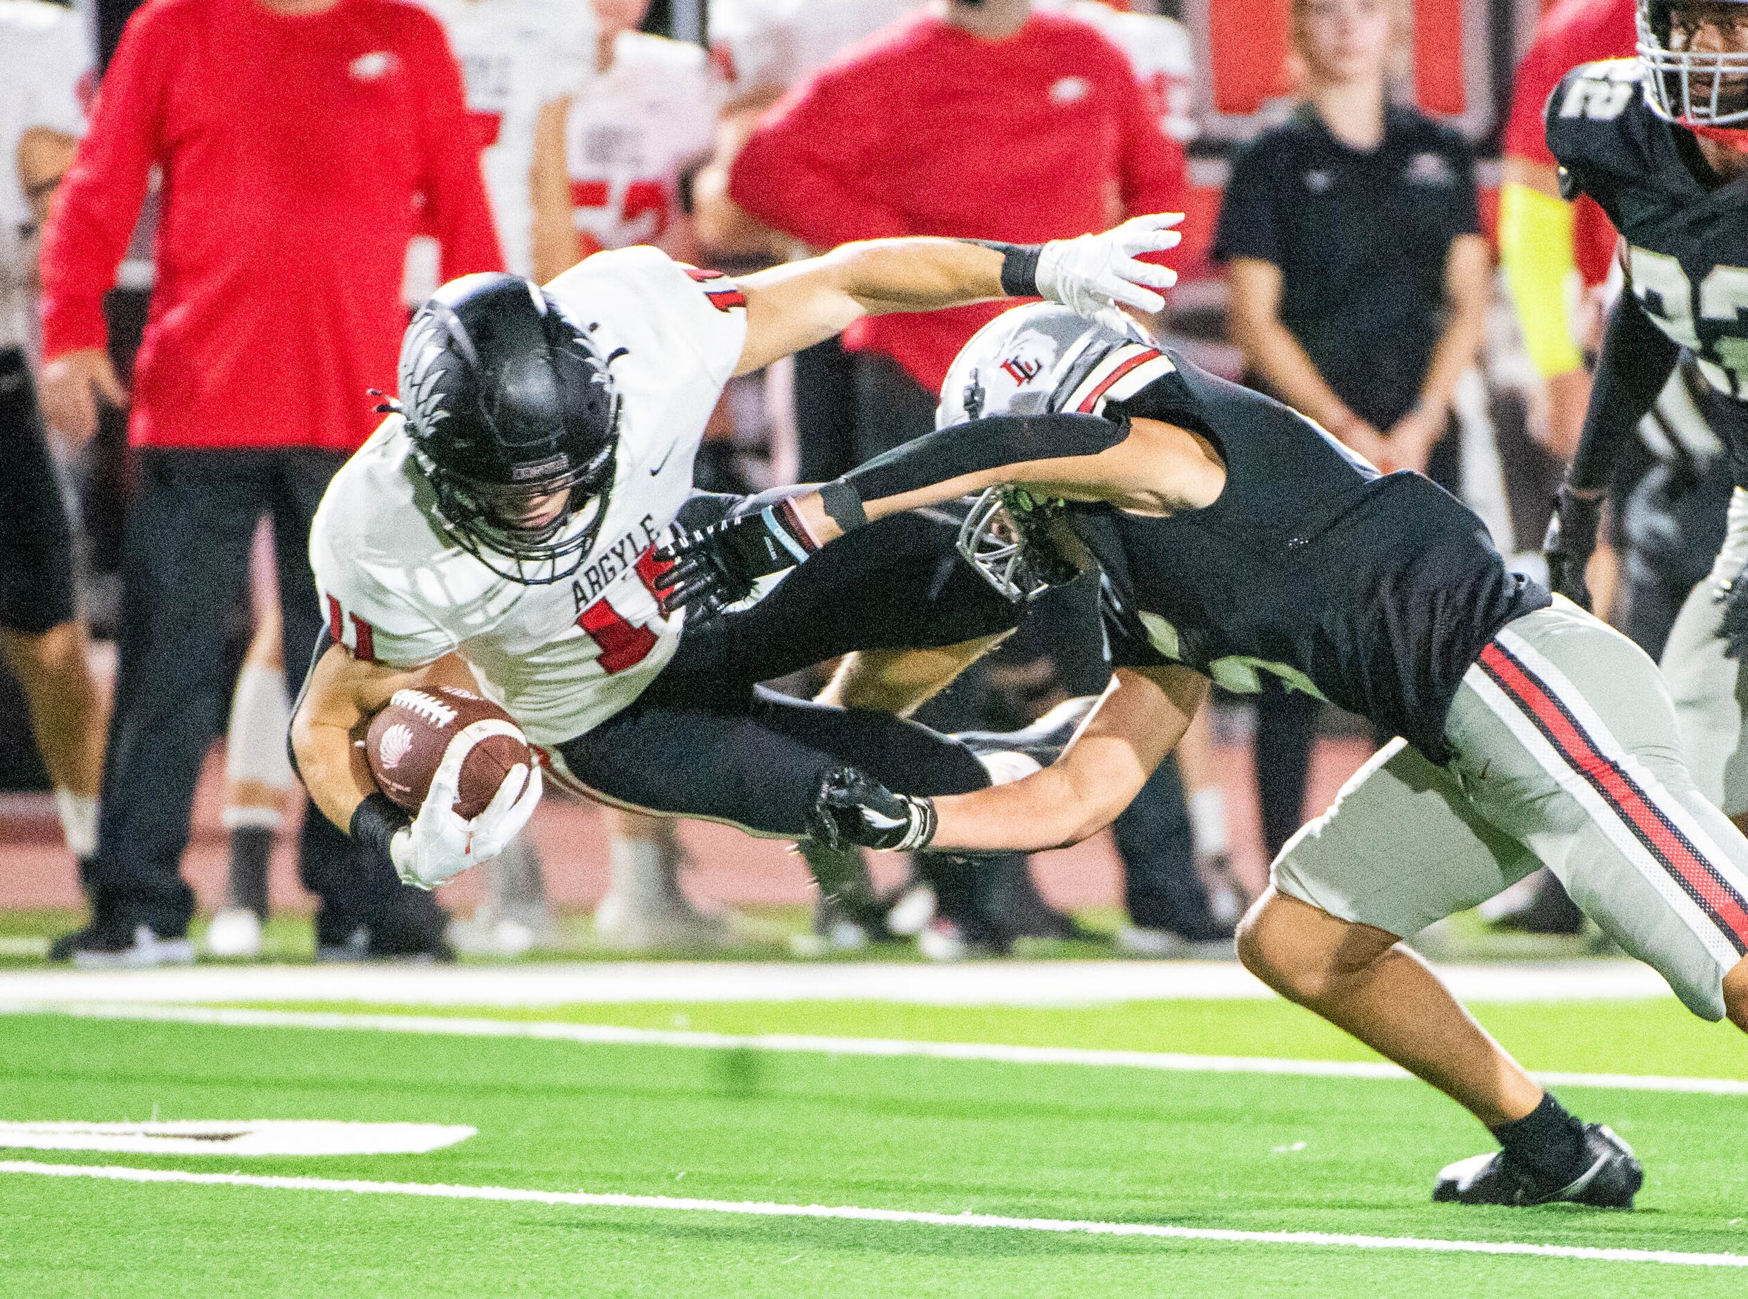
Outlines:
{"type": "MultiPolygon", "coordinates": [[[[1633,1152],[1538,1087],[1398,939],[1545,864],[1689,1009],[1748,1028],[1748,839],[1694,788],[1652,661],[1509,573],[1428,479],[1379,476],[1295,411],[1058,308],[981,330],[942,416],[953,427],[797,490],[797,516],[823,540],[986,493],[961,544],[1010,598],[1101,573],[1113,685],[1054,766],[1000,788],[921,799],[834,773],[815,836],[1077,843],[1134,795],[1210,680],[1327,698],[1402,738],[1276,858],[1246,967],[1493,1129],[1503,1149],[1446,1168],[1437,1199],[1631,1205],[1633,1152]]],[[[774,563],[769,528],[746,516],[689,537],[671,598],[745,591],[774,563]]]]}

